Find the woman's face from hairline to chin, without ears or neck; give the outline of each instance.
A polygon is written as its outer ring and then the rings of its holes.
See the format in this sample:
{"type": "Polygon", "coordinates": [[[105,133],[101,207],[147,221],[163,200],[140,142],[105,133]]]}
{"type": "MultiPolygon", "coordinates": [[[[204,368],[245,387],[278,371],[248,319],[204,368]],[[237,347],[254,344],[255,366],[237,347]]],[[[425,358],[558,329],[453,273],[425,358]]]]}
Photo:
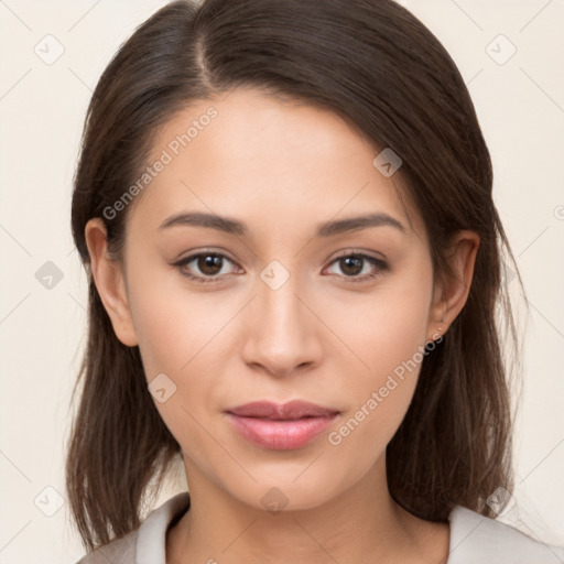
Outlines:
{"type": "Polygon", "coordinates": [[[122,204],[131,318],[115,327],[188,484],[304,509],[382,460],[445,325],[423,225],[378,153],[336,115],[250,89],[160,131],[122,204]],[[229,413],[294,400],[322,410],[229,413]]]}

